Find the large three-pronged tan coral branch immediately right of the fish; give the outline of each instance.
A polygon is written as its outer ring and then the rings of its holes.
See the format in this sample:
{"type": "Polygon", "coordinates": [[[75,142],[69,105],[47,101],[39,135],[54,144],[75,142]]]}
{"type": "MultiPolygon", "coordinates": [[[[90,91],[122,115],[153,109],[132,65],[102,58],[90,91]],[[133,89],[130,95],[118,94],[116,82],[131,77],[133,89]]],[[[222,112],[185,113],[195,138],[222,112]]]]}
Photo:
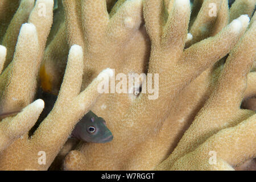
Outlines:
{"type": "Polygon", "coordinates": [[[213,38],[205,39],[183,52],[189,2],[175,1],[166,25],[161,3],[144,1],[144,18],[152,45],[148,73],[159,73],[158,99],[148,100],[148,94],[140,94],[130,106],[123,104],[121,107],[109,101],[109,113],[104,117],[110,122],[109,128],[115,136],[113,142],[81,144],[77,151],[67,156],[65,169],[134,169],[135,162],[131,162],[133,158],[130,156],[145,139],[159,131],[173,106],[171,101],[204,69],[225,56],[243,29],[240,20],[235,20],[213,38]],[[79,163],[72,163],[71,158],[76,158],[79,163]],[[96,159],[97,162],[94,161],[96,159]]]}

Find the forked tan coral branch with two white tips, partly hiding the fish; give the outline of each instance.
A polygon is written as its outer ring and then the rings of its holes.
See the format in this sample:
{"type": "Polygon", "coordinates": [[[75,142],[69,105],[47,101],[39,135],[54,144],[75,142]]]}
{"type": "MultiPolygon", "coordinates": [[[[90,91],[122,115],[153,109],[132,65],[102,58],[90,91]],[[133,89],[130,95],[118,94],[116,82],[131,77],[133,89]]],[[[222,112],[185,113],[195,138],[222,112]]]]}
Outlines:
{"type": "Polygon", "coordinates": [[[48,169],[73,127],[100,95],[97,92],[98,84],[109,81],[113,75],[112,70],[106,69],[80,93],[82,71],[82,48],[72,46],[63,84],[51,113],[30,138],[28,134],[24,134],[1,152],[0,169],[48,169]],[[42,163],[40,155],[45,155],[45,161],[42,163]]]}

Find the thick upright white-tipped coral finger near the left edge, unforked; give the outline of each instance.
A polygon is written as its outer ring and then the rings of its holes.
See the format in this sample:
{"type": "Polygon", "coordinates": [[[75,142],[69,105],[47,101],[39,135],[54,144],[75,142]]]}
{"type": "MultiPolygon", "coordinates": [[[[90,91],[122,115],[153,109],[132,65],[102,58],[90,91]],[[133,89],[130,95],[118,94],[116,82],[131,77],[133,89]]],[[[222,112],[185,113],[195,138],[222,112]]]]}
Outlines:
{"type": "Polygon", "coordinates": [[[30,104],[34,98],[36,73],[40,61],[38,58],[39,44],[34,24],[23,24],[16,44],[14,59],[2,73],[1,111],[19,110],[30,104]],[[27,50],[30,49],[29,52],[27,50]],[[27,52],[27,53],[25,53],[27,52]],[[20,81],[20,78],[24,79],[20,81]],[[7,110],[8,109],[8,110],[7,110]]]}

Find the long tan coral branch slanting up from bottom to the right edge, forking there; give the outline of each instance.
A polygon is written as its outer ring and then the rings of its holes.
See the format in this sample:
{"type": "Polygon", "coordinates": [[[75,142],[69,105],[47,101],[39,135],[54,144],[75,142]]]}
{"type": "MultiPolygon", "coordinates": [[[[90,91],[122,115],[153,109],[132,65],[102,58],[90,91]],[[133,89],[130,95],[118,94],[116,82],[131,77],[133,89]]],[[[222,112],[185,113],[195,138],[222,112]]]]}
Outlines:
{"type": "Polygon", "coordinates": [[[240,105],[246,88],[246,75],[255,57],[256,50],[253,48],[255,45],[249,42],[256,37],[255,24],[256,22],[232,49],[209,100],[197,114],[170,157],[160,164],[158,169],[171,167],[177,159],[193,151],[214,133],[237,125],[254,114],[254,111],[241,110],[240,105]]]}

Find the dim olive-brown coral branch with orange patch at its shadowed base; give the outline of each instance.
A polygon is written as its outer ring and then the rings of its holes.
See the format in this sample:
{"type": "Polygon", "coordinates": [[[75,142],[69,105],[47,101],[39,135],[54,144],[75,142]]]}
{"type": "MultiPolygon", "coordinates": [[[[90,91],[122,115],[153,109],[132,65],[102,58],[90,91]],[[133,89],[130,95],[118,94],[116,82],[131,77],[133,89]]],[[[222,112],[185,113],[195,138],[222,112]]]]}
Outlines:
{"type": "MultiPolygon", "coordinates": [[[[44,53],[42,68],[40,69],[41,86],[44,90],[52,93],[59,92],[61,80],[67,64],[69,46],[67,41],[67,28],[65,26],[64,7],[61,0],[58,2],[58,8],[53,16],[53,26],[47,39],[47,48],[44,53]]],[[[74,2],[71,2],[71,4],[74,2]]],[[[111,10],[115,0],[108,0],[106,4],[108,10],[111,10]]]]}

